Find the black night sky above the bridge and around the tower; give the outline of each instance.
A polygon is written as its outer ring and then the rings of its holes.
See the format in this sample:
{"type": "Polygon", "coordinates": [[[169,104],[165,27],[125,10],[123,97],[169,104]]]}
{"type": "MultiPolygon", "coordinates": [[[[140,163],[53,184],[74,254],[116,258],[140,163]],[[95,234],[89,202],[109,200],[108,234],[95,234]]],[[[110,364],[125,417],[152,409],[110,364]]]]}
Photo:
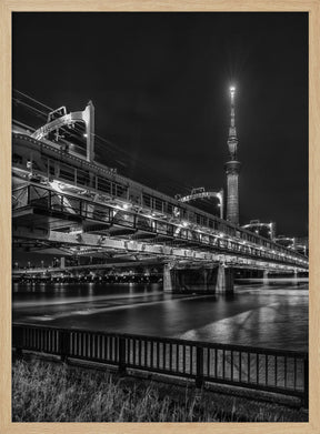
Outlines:
{"type": "Polygon", "coordinates": [[[170,195],[226,188],[234,83],[240,223],[308,234],[307,13],[20,12],[12,33],[13,88],[92,100],[97,160],[170,195]]]}

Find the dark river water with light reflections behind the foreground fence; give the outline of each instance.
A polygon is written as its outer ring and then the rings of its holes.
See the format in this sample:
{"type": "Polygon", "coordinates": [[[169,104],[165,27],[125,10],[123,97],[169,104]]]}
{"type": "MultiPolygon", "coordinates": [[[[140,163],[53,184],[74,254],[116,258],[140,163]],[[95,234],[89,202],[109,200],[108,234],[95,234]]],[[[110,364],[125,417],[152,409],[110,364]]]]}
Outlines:
{"type": "Polygon", "coordinates": [[[102,330],[308,351],[308,285],[236,286],[232,296],[167,294],[162,284],[13,284],[12,317],[102,330]]]}

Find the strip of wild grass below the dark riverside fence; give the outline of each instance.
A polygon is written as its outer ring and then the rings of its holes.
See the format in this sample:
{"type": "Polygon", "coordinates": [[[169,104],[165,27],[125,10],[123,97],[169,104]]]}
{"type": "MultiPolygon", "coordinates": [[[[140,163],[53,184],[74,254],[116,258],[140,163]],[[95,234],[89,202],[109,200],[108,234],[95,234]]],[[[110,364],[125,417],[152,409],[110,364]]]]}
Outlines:
{"type": "Polygon", "coordinates": [[[294,408],[39,360],[12,366],[13,422],[306,422],[294,408]]]}

